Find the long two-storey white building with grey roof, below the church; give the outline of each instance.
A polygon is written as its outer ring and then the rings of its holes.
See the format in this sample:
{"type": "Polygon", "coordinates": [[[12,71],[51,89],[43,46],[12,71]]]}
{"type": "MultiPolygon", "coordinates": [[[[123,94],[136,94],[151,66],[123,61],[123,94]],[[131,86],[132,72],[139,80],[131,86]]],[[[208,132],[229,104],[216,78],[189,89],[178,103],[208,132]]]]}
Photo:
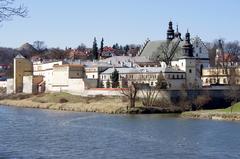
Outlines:
{"type": "Polygon", "coordinates": [[[139,84],[148,84],[156,86],[158,76],[160,74],[166,79],[169,89],[180,89],[185,85],[186,74],[181,70],[162,67],[146,67],[146,68],[109,68],[101,73],[100,80],[104,87],[107,88],[107,82],[110,82],[114,70],[119,73],[119,86],[127,85],[130,82],[139,84]],[[126,83],[125,83],[126,82],[126,83]]]}

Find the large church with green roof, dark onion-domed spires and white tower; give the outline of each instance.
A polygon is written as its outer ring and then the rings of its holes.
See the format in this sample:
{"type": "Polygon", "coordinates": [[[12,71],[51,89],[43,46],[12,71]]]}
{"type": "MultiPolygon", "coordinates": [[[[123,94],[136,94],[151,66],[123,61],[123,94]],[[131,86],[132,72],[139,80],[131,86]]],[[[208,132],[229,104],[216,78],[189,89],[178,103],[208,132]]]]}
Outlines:
{"type": "Polygon", "coordinates": [[[182,38],[178,26],[175,31],[171,21],[166,40],[147,40],[138,55],[159,60],[162,67],[185,71],[187,88],[201,88],[202,70],[209,66],[208,49],[204,42],[198,36],[191,38],[188,31],[182,38]]]}

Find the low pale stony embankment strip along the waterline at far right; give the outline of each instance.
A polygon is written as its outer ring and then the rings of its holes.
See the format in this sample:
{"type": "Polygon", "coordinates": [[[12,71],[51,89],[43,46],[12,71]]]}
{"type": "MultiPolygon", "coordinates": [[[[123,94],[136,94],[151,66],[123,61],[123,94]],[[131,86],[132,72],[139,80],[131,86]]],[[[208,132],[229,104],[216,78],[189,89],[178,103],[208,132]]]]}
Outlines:
{"type": "Polygon", "coordinates": [[[229,113],[211,110],[183,112],[181,116],[184,118],[192,119],[240,121],[240,113],[229,113]]]}

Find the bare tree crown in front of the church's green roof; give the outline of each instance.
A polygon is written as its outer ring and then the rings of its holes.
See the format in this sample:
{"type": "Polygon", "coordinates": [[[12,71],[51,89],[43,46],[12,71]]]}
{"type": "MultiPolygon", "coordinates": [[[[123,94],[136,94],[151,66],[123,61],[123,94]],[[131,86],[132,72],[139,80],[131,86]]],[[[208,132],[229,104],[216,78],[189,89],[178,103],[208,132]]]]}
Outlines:
{"type": "Polygon", "coordinates": [[[167,66],[171,65],[171,62],[174,58],[175,53],[179,49],[180,39],[165,41],[160,44],[157,48],[157,51],[153,54],[154,60],[160,60],[166,63],[167,66]]]}

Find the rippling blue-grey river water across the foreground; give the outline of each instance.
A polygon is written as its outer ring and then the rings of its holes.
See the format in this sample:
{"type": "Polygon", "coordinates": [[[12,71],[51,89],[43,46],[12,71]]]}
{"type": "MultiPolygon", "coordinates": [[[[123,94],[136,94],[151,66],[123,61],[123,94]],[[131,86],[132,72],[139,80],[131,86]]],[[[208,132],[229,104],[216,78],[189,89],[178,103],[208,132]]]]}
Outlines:
{"type": "Polygon", "coordinates": [[[0,106],[0,159],[240,158],[240,122],[0,106]]]}

